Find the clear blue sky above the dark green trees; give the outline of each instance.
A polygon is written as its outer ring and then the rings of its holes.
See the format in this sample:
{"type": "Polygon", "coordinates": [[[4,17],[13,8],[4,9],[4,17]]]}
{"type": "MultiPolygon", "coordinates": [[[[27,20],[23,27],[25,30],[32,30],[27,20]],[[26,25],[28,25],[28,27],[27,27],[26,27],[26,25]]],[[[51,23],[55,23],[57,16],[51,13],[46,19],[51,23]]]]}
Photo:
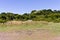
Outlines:
{"type": "Polygon", "coordinates": [[[0,13],[29,13],[32,10],[60,10],[60,0],[0,0],[0,13]]]}

